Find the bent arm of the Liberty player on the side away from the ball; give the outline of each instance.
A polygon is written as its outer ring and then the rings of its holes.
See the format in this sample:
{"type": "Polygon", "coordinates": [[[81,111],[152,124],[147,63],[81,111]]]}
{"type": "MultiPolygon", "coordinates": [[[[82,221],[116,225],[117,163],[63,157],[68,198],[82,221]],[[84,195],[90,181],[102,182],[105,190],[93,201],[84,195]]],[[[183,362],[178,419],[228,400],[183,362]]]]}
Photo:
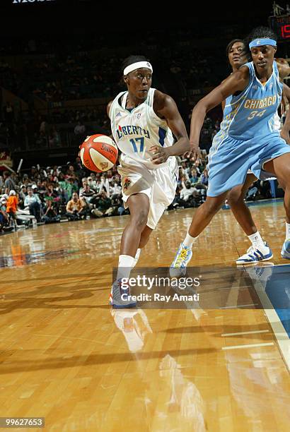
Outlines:
{"type": "Polygon", "coordinates": [[[169,156],[183,155],[190,150],[190,141],[187,136],[184,121],[178,112],[172,97],[165,95],[156,90],[153,103],[154,112],[161,118],[165,119],[171,131],[173,131],[177,142],[171,147],[160,147],[153,145],[150,151],[153,152],[152,162],[161,164],[166,162],[169,156]]]}

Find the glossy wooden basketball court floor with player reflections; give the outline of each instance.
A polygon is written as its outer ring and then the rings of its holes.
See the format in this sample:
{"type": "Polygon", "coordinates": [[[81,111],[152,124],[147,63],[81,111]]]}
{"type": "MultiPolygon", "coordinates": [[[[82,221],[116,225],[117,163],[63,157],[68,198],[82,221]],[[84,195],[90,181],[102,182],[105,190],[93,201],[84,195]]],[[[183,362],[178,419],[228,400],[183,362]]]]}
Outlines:
{"type": "MultiPolygon", "coordinates": [[[[138,266],[170,265],[194,211],[164,215],[138,266]]],[[[272,263],[289,264],[280,257],[282,203],[252,212],[272,263]]],[[[223,308],[108,306],[126,223],[110,217],[0,237],[0,416],[45,417],[47,431],[289,431],[289,338],[269,305],[243,307],[250,299],[221,282],[199,292],[221,293],[223,308]]],[[[221,210],[192,265],[236,271],[248,246],[221,210]]],[[[266,294],[257,288],[262,304],[266,294]]]]}

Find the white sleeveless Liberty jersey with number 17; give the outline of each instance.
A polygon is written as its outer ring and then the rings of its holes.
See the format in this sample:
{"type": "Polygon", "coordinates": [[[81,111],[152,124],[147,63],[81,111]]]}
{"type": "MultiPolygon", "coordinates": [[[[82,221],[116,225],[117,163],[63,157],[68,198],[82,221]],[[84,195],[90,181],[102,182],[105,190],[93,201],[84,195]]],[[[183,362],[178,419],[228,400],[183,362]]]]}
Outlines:
{"type": "Polygon", "coordinates": [[[155,88],[150,88],[146,100],[132,110],[126,109],[128,92],[121,92],[112,101],[109,112],[112,136],[118,148],[148,169],[166,166],[170,159],[163,164],[153,164],[149,148],[152,145],[169,147],[174,141],[166,120],[153,111],[154,92],[155,88]]]}

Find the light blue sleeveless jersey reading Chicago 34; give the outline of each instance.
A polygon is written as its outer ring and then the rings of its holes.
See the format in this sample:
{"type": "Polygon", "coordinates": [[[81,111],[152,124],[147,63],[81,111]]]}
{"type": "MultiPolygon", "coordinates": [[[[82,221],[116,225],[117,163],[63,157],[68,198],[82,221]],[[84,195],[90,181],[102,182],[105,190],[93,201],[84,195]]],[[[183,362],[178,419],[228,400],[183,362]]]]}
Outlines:
{"type": "Polygon", "coordinates": [[[264,85],[255,74],[253,61],[244,66],[249,69],[249,84],[239,95],[226,98],[219,133],[240,140],[267,136],[275,131],[279,133],[275,127],[275,113],[281,103],[283,84],[279,81],[276,61],[272,75],[264,85]]]}

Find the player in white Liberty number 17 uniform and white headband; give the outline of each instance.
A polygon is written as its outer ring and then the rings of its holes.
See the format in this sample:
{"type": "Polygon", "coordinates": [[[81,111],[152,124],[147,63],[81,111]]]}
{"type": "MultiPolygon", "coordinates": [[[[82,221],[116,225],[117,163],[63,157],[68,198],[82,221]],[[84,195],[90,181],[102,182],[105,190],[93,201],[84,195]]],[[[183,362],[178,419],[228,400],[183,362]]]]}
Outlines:
{"type": "Polygon", "coordinates": [[[122,234],[116,281],[110,303],[134,307],[127,295],[129,278],[164,210],[172,203],[178,181],[175,156],[190,150],[185,124],[173,99],[151,88],[152,66],[144,56],[129,56],[123,64],[127,91],[108,104],[112,136],[120,149],[122,196],[130,220],[122,234]],[[177,142],[173,145],[173,133],[177,142]]]}

